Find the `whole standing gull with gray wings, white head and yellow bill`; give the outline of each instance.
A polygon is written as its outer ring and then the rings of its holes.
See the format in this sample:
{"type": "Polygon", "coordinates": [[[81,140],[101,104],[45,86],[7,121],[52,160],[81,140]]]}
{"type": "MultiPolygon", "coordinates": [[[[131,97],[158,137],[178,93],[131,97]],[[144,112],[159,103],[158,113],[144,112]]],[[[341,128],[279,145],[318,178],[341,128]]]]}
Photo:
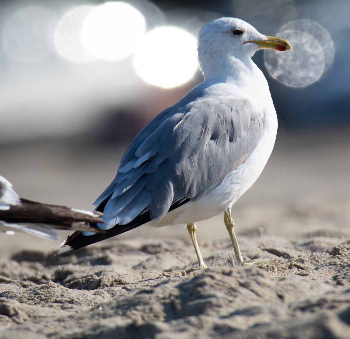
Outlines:
{"type": "Polygon", "coordinates": [[[198,35],[204,81],[135,137],[112,183],[97,198],[106,232],[75,232],[57,254],[146,224],[185,224],[198,264],[197,221],[224,212],[235,256],[243,264],[231,207],[252,186],[272,152],[277,117],[267,81],[251,59],[259,49],[292,50],[279,37],[223,17],[198,35]]]}

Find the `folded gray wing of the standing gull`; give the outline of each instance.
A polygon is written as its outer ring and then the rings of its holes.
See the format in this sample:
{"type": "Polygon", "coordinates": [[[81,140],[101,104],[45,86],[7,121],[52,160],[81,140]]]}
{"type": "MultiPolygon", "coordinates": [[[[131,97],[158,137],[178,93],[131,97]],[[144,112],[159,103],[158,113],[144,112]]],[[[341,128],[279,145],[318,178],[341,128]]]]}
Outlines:
{"type": "Polygon", "coordinates": [[[248,100],[230,97],[163,111],[135,137],[116,178],[94,203],[104,205],[100,227],[125,225],[145,211],[160,220],[174,202],[203,197],[250,155],[263,119],[248,100]]]}

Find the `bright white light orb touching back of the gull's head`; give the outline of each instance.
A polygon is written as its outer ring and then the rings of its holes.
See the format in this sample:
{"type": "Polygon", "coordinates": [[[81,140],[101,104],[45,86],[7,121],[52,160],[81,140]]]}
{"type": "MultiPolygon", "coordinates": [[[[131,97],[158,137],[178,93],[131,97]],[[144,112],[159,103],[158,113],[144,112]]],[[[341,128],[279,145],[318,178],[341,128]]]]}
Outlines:
{"type": "Polygon", "coordinates": [[[190,80],[198,68],[197,39],[171,26],[146,33],[134,54],[134,69],[144,82],[171,88],[190,80]]]}

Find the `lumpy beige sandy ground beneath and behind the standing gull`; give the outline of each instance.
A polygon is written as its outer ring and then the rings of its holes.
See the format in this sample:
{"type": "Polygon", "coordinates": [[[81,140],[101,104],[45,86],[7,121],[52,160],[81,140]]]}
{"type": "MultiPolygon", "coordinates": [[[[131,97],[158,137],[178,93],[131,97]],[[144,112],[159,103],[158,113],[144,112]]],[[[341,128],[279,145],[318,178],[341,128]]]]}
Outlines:
{"type": "MultiPolygon", "coordinates": [[[[348,131],[280,134],[233,207],[244,259],[278,265],[237,266],[222,215],[198,224],[206,270],[176,226],[55,257],[54,242],[0,234],[0,338],[350,338],[349,147],[348,131]]],[[[91,209],[123,149],[0,154],[21,196],[91,209]]]]}

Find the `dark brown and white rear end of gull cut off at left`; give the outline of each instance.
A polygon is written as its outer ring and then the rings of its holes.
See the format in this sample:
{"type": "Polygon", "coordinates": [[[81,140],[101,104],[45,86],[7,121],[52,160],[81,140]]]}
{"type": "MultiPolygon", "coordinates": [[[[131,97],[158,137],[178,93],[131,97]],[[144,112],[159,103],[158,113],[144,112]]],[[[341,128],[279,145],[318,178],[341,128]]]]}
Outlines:
{"type": "Polygon", "coordinates": [[[20,231],[44,239],[58,240],[55,229],[103,232],[86,223],[103,223],[101,212],[37,203],[20,198],[12,184],[0,175],[0,231],[20,231]]]}

